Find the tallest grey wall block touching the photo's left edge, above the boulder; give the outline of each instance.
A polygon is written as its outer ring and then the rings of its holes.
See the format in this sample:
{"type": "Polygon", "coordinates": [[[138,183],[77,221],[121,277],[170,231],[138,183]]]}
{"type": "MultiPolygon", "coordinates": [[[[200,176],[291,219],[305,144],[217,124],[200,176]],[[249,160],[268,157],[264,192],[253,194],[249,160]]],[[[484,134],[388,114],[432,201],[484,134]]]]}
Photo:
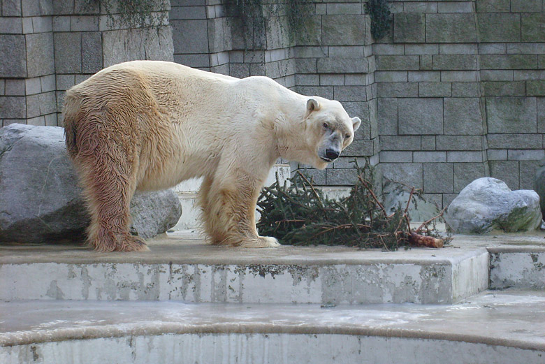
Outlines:
{"type": "Polygon", "coordinates": [[[0,35],[0,78],[27,77],[26,43],[22,35],[0,35]]]}

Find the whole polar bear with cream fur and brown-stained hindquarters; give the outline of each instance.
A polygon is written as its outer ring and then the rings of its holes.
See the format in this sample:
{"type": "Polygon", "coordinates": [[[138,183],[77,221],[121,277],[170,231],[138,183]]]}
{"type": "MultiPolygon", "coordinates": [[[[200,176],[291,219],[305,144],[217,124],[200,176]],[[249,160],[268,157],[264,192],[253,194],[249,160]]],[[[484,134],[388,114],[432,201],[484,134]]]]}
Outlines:
{"type": "Polygon", "coordinates": [[[147,250],[129,233],[138,190],[203,177],[203,227],[215,245],[275,247],[255,208],[279,158],[326,168],[361,120],[338,101],[302,96],[262,76],[233,78],[166,61],[110,66],[66,92],[66,147],[100,252],[147,250]]]}

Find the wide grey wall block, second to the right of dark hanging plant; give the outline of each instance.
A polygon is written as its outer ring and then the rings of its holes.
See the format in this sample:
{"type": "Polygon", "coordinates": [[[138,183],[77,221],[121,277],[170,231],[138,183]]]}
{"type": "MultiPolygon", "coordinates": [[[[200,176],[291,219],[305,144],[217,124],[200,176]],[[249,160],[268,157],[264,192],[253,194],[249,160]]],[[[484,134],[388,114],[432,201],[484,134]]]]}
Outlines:
{"type": "Polygon", "coordinates": [[[477,41],[472,14],[426,14],[426,42],[474,43],[477,41]]]}

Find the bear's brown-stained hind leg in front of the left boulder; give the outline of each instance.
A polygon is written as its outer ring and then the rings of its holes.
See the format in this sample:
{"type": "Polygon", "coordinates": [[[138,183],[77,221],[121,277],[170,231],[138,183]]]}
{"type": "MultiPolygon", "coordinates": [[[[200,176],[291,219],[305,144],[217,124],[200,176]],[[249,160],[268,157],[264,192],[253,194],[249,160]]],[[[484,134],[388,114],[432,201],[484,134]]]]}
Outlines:
{"type": "Polygon", "coordinates": [[[77,157],[91,214],[87,241],[98,252],[149,250],[144,240],[129,232],[135,168],[115,143],[102,141],[105,144],[99,143],[93,152],[77,157]]]}

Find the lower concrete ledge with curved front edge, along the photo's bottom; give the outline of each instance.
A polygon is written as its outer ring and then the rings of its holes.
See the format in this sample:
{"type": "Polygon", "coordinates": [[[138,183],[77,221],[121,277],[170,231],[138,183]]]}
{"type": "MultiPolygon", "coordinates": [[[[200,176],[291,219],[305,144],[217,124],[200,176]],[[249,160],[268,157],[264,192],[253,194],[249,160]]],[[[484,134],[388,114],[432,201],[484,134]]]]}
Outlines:
{"type": "Polygon", "coordinates": [[[0,303],[0,363],[544,363],[545,293],[457,305],[0,303]]]}

